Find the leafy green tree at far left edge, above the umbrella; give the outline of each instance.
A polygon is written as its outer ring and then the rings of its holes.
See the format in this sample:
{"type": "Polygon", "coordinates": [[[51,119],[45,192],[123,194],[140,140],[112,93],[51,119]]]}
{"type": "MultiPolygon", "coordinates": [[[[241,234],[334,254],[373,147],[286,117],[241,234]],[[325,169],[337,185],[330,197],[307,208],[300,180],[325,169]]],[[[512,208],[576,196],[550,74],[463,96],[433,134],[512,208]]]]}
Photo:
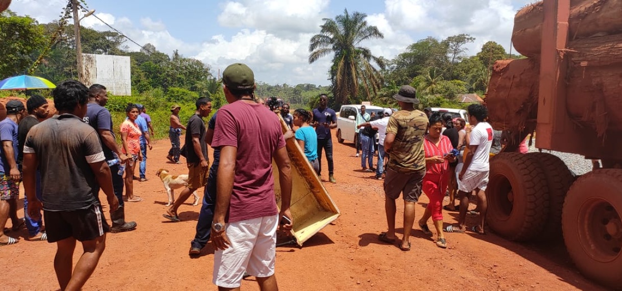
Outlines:
{"type": "Polygon", "coordinates": [[[7,10],[0,13],[0,76],[23,74],[42,49],[44,29],[34,19],[7,10]]]}

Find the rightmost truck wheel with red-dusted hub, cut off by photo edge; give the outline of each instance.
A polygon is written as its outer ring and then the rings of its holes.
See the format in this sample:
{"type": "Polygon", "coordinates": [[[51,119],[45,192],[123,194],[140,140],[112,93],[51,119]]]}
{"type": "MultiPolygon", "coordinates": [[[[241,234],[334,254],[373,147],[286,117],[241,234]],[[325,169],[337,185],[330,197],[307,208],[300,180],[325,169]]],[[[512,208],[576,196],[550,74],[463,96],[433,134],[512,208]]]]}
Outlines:
{"type": "Polygon", "coordinates": [[[622,287],[622,170],[596,170],[572,184],[562,230],[577,268],[613,289],[622,287]]]}

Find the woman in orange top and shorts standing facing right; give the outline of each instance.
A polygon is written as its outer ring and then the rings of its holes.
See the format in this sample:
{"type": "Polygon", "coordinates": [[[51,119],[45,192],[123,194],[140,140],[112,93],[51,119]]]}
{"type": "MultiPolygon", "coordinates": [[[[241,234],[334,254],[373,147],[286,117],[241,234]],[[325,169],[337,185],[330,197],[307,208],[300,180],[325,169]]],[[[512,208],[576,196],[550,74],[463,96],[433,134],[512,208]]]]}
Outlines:
{"type": "Polygon", "coordinates": [[[142,198],[134,196],[134,168],[136,160],[142,161],[141,155],[141,135],[142,131],[136,124],[138,118],[138,108],[134,103],[128,103],[125,109],[128,119],[121,124],[121,142],[123,142],[123,154],[128,155],[129,159],[125,166],[125,195],[128,202],[139,202],[142,198]]]}

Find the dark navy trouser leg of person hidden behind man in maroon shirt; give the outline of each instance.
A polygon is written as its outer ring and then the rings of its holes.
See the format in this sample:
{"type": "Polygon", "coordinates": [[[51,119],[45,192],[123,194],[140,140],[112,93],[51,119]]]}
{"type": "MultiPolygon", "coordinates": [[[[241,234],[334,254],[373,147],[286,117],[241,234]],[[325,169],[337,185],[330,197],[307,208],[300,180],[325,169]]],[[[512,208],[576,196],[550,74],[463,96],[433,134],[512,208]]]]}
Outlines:
{"type": "Polygon", "coordinates": [[[216,173],[218,173],[218,164],[211,165],[207,185],[203,190],[203,205],[198,215],[197,234],[190,243],[190,247],[203,249],[207,241],[210,240],[211,221],[214,219],[214,208],[216,207],[216,173]]]}

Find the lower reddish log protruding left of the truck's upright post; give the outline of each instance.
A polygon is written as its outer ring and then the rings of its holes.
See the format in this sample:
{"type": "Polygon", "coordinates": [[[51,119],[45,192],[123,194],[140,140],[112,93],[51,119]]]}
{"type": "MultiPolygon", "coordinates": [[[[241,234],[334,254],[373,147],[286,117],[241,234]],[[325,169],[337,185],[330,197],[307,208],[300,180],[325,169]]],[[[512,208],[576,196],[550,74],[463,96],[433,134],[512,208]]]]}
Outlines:
{"type": "Polygon", "coordinates": [[[539,63],[532,59],[494,63],[486,106],[494,129],[521,132],[537,118],[539,63]]]}

